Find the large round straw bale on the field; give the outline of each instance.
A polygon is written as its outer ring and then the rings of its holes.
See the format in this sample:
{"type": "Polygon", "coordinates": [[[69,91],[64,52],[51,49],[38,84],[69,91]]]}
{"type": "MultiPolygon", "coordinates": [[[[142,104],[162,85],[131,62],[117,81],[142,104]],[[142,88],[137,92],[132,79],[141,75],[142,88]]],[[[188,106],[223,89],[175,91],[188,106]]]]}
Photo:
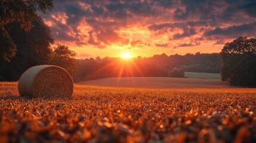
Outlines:
{"type": "Polygon", "coordinates": [[[30,67],[18,80],[18,92],[21,97],[71,97],[73,80],[58,66],[30,67]]]}

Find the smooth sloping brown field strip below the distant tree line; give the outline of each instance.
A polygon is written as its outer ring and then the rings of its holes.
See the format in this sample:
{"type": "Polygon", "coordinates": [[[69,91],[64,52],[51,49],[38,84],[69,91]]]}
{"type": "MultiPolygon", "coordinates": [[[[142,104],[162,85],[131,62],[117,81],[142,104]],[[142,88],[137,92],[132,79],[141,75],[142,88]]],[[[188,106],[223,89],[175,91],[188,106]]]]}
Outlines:
{"type": "Polygon", "coordinates": [[[219,79],[175,77],[111,77],[79,82],[78,85],[117,86],[129,88],[238,88],[219,79]]]}

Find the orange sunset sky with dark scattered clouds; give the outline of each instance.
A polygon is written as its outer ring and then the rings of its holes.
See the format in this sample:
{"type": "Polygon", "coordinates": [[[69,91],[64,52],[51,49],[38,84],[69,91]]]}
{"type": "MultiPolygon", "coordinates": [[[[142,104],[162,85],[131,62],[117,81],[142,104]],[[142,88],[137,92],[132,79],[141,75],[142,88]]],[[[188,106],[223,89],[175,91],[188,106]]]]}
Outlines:
{"type": "Polygon", "coordinates": [[[256,35],[255,0],[63,1],[40,14],[76,58],[220,52],[256,35]]]}

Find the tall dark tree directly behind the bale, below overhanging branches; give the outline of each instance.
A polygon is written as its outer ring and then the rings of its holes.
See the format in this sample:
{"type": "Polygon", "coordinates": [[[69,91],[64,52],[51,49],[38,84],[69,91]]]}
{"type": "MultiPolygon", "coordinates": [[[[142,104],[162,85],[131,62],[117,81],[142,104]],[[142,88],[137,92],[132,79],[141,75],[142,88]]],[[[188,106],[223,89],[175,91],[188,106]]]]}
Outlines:
{"type": "Polygon", "coordinates": [[[32,21],[30,31],[22,29],[16,22],[6,24],[5,29],[17,45],[17,53],[10,62],[2,63],[0,80],[18,80],[29,67],[49,63],[54,39],[42,20],[32,21]]]}

